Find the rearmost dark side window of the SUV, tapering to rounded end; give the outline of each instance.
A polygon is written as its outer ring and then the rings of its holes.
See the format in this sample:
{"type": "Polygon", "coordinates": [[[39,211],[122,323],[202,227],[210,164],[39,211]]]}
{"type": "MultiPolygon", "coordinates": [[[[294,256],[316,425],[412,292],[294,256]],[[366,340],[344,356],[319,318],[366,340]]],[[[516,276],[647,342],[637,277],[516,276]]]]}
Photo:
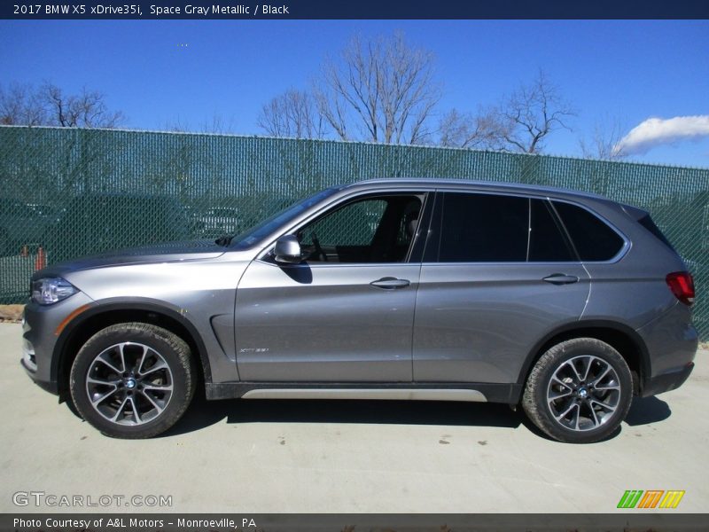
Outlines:
{"type": "Polygon", "coordinates": [[[555,201],[559,217],[579,252],[581,261],[608,261],[619,253],[623,239],[585,208],[555,201]]]}

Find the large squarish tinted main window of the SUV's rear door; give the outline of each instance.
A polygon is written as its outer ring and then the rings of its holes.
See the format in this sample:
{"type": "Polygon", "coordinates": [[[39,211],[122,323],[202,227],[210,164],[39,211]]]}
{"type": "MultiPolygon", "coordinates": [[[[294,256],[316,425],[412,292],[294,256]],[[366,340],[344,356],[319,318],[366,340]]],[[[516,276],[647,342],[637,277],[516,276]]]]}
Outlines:
{"type": "Polygon", "coordinates": [[[525,262],[529,200],[447,192],[443,198],[440,262],[525,262]]]}

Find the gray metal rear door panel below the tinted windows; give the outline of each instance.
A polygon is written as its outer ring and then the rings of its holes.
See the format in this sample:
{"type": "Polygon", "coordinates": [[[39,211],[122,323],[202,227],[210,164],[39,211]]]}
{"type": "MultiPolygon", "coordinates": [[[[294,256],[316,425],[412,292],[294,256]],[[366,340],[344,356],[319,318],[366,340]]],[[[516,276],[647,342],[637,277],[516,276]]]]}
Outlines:
{"type": "Polygon", "coordinates": [[[417,295],[414,379],[514,382],[529,346],[578,320],[589,279],[580,264],[425,263],[417,295]],[[579,278],[552,285],[543,278],[579,278]]]}

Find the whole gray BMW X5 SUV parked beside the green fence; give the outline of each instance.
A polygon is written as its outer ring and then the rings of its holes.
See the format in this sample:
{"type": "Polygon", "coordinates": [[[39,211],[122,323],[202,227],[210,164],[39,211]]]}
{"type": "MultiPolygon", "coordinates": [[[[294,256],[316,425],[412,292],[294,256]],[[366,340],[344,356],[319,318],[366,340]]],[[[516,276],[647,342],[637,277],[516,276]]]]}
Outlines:
{"type": "Polygon", "coordinates": [[[243,234],[51,266],[22,364],[104,434],[207,399],[521,404],[562,442],[682,385],[694,286],[647,212],[513,184],[338,186],[243,234]]]}

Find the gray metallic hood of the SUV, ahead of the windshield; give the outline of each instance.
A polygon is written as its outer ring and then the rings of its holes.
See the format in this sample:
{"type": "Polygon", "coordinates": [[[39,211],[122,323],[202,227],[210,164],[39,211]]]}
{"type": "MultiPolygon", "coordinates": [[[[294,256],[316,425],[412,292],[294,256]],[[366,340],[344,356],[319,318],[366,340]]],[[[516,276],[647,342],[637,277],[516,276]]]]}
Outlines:
{"type": "Polygon", "coordinates": [[[186,240],[166,242],[150,246],[131,247],[104,254],[91,255],[67,262],[59,262],[35,273],[33,278],[58,277],[66,271],[91,270],[128,264],[150,264],[153,262],[186,262],[215,259],[227,247],[218,246],[214,240],[186,240]]]}

